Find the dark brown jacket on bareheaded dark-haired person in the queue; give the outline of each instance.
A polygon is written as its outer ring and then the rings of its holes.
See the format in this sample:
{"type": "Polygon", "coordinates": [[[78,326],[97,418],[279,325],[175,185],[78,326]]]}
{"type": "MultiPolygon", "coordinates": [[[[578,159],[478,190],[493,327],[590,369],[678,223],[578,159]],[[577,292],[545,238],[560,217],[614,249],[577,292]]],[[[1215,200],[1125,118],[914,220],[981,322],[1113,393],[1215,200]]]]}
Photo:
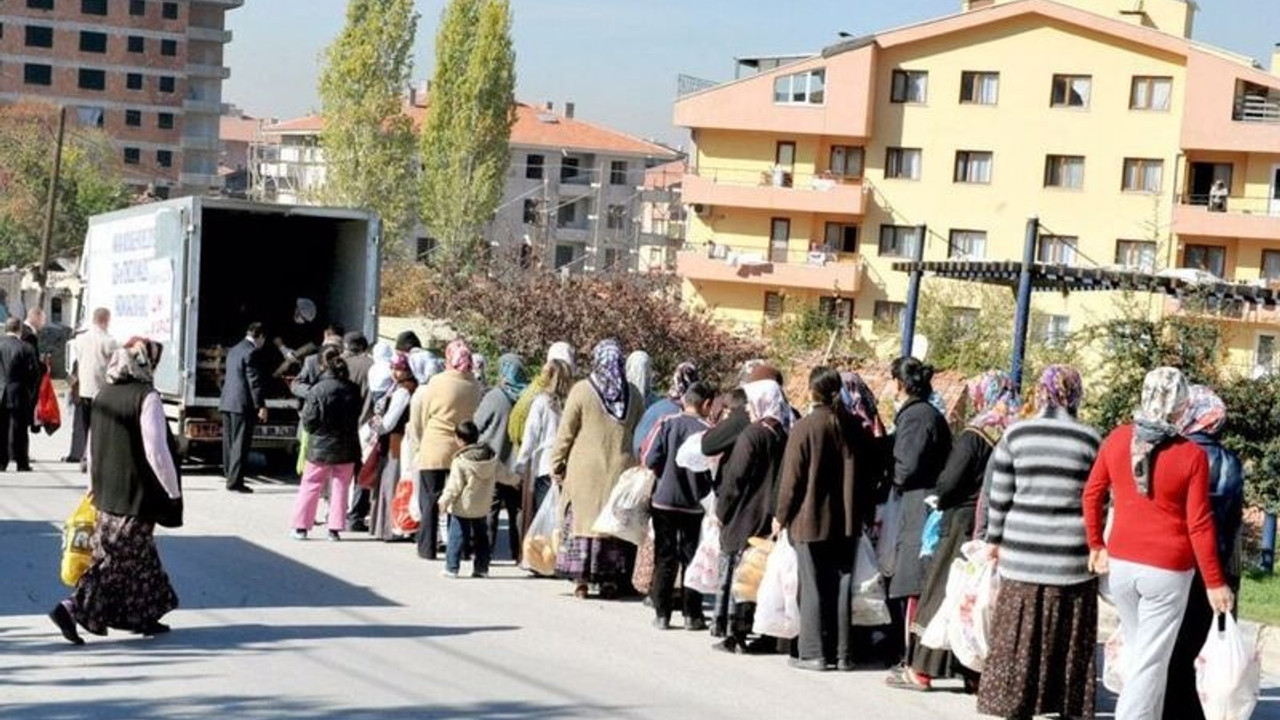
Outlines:
{"type": "Polygon", "coordinates": [[[791,429],[782,455],[777,520],[794,542],[855,538],[873,506],[873,482],[860,477],[855,455],[865,433],[845,413],[818,406],[791,429]]]}

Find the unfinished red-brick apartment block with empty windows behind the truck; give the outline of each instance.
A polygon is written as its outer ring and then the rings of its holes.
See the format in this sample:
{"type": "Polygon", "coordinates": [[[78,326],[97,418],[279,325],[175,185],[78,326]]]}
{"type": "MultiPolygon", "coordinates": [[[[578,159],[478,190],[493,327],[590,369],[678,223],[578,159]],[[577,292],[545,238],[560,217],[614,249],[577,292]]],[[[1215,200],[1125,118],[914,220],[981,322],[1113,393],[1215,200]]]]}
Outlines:
{"type": "Polygon", "coordinates": [[[160,195],[219,187],[225,14],[244,0],[9,0],[0,102],[45,101],[111,136],[127,179],[160,195]]]}

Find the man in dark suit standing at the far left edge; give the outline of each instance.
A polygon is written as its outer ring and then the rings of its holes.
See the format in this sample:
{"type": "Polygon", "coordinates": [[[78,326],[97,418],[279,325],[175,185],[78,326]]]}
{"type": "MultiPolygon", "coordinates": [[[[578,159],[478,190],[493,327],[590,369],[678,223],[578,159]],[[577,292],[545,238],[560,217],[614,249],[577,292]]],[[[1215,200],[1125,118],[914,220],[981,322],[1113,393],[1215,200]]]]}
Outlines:
{"type": "Polygon", "coordinates": [[[40,359],[22,340],[22,320],[5,320],[0,338],[0,470],[12,459],[19,473],[31,471],[31,419],[35,416],[36,393],[40,391],[40,359]]]}

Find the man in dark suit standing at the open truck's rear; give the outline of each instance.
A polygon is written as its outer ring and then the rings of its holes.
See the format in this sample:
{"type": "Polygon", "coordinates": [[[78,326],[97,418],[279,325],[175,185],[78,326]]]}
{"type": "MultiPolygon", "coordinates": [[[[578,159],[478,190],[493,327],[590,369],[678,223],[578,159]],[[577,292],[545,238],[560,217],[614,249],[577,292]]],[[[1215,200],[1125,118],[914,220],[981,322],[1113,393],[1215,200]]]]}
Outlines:
{"type": "Polygon", "coordinates": [[[227,352],[219,410],[223,413],[223,475],[232,492],[253,492],[244,484],[244,466],[253,445],[253,427],[266,421],[266,395],[257,368],[257,351],[265,341],[262,324],[252,323],[244,340],[227,352]]]}

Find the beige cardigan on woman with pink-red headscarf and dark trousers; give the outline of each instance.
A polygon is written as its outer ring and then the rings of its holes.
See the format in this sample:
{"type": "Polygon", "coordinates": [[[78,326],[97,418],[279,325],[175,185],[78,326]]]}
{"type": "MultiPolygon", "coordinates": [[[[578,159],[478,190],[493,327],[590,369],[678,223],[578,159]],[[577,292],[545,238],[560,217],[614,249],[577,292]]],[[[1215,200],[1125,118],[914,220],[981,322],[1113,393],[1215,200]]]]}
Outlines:
{"type": "Polygon", "coordinates": [[[413,393],[408,433],[417,446],[419,470],[448,470],[458,441],[453,432],[472,420],[480,406],[480,386],[457,370],[436,374],[413,393]]]}

